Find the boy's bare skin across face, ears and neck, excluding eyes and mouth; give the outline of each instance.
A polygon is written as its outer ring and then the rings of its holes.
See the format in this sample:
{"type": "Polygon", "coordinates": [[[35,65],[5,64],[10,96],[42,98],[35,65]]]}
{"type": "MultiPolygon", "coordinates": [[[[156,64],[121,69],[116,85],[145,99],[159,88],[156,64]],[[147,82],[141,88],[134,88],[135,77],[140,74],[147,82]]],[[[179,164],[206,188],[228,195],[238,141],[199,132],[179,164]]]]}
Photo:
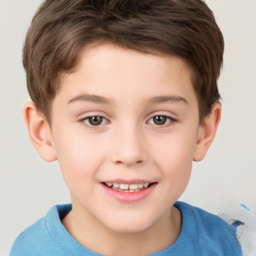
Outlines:
{"type": "Polygon", "coordinates": [[[33,102],[24,106],[33,145],[44,160],[58,160],[71,194],[63,225],[88,249],[119,256],[152,253],[176,240],[181,214],[173,204],[219,118],[215,104],[199,125],[190,72],[180,58],[110,43],[86,46],[76,70],[62,77],[51,127],[33,102]],[[91,116],[102,122],[91,125],[91,116]],[[105,192],[102,182],[113,180],[154,185],[141,200],[123,202],[105,192]]]}

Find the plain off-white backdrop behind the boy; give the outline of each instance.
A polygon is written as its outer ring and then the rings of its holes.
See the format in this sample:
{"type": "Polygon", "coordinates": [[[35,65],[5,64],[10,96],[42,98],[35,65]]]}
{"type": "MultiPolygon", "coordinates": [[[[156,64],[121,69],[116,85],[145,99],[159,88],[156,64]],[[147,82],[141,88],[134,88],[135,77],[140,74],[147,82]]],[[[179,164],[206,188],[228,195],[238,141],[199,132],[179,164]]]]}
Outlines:
{"type": "MultiPolygon", "coordinates": [[[[256,211],[256,0],[207,0],[225,39],[222,119],[207,156],[193,163],[181,200],[213,213],[227,202],[256,211]]],[[[69,202],[57,162],[32,147],[22,120],[26,29],[41,0],[0,0],[0,255],[53,204],[69,202]]]]}

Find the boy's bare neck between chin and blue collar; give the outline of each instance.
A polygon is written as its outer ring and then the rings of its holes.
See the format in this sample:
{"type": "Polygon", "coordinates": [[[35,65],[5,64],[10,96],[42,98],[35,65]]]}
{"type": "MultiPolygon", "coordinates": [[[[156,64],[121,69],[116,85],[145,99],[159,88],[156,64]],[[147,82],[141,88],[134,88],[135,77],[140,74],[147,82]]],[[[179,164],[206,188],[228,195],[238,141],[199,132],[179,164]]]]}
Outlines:
{"type": "Polygon", "coordinates": [[[174,206],[146,230],[115,232],[90,214],[72,210],[61,220],[67,231],[87,249],[108,256],[141,256],[170,246],[181,229],[181,214],[174,206]]]}

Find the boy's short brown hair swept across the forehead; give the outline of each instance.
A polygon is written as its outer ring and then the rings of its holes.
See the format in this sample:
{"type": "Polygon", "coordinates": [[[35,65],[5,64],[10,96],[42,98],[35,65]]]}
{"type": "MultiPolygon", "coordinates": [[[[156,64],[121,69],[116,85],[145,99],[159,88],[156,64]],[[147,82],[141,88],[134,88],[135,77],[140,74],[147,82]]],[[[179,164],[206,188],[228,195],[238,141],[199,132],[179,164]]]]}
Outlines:
{"type": "Polygon", "coordinates": [[[28,29],[23,65],[29,95],[49,122],[61,74],[74,70],[84,45],[104,40],[184,59],[200,123],[219,101],[224,42],[204,1],[45,0],[28,29]]]}

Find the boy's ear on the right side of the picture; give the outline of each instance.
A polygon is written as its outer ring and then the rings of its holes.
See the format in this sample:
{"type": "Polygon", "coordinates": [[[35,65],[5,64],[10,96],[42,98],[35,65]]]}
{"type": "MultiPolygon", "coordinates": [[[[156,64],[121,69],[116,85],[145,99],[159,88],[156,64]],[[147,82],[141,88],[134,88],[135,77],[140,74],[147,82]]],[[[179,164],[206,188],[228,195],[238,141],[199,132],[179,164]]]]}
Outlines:
{"type": "Polygon", "coordinates": [[[215,103],[211,112],[204,118],[204,122],[199,128],[198,140],[193,153],[194,161],[201,161],[204,158],[213,138],[215,137],[220,121],[220,115],[221,105],[219,103],[215,103]]]}

